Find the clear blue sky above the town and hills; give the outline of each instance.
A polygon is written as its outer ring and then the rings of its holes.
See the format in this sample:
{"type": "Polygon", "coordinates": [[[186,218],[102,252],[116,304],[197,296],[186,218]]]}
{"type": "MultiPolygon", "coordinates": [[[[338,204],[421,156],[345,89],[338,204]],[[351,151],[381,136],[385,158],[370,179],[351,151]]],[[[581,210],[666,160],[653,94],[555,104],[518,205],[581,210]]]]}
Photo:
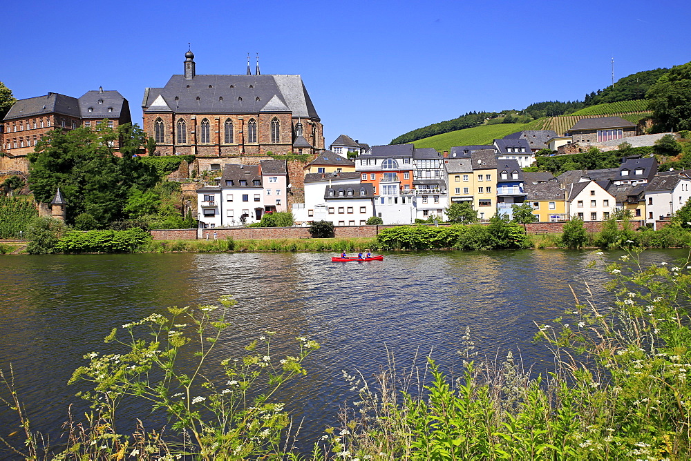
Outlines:
{"type": "Polygon", "coordinates": [[[140,123],[144,88],[182,73],[300,74],[330,144],[370,145],[472,110],[583,99],[691,61],[691,2],[13,1],[0,81],[22,99],[103,86],[140,123]]]}

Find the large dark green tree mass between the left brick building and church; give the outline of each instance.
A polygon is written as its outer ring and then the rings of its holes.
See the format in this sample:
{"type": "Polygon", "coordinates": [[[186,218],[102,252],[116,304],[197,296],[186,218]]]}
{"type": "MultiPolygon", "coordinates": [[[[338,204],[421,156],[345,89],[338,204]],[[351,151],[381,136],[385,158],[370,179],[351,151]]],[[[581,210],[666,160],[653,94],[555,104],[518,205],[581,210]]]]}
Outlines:
{"type": "Polygon", "coordinates": [[[68,223],[82,213],[92,215],[100,228],[124,218],[131,189],[151,188],[158,177],[139,157],[113,155],[111,142],[117,138],[122,139],[121,151],[129,152],[140,146],[144,135],[136,126],[113,130],[103,122],[97,130],[50,131],[28,155],[28,182],[37,201],[50,202],[60,188],[68,202],[68,223]]]}

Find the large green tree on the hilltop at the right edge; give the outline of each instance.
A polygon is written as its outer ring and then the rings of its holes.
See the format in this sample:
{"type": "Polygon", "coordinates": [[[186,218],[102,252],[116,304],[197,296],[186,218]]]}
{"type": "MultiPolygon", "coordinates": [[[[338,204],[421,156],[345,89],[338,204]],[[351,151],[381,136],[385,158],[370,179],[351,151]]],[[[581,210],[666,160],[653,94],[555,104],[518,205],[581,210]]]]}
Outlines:
{"type": "Polygon", "coordinates": [[[691,62],[674,66],[650,87],[645,98],[656,133],[691,130],[691,62]]]}

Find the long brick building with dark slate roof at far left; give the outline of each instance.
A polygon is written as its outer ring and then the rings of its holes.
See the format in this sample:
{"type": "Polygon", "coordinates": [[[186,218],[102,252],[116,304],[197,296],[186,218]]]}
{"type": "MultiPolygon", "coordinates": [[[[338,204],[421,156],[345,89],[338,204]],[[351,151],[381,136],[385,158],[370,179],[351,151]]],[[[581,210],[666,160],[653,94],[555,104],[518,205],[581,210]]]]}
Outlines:
{"type": "Polygon", "coordinates": [[[104,119],[111,128],[131,123],[129,103],[119,92],[99,88],[79,98],[48,92],[20,99],[10,108],[2,120],[0,144],[9,157],[26,157],[50,130],[95,126],[104,119]]]}

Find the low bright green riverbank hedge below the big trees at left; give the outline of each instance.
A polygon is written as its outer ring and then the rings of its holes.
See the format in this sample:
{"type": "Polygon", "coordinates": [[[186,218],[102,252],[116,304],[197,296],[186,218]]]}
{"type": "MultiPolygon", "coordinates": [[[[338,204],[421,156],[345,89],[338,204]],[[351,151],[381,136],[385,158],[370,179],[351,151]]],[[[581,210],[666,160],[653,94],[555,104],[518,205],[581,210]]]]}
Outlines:
{"type": "Polygon", "coordinates": [[[63,253],[132,253],[151,240],[137,227],[127,230],[72,231],[59,239],[55,251],[63,253]]]}

